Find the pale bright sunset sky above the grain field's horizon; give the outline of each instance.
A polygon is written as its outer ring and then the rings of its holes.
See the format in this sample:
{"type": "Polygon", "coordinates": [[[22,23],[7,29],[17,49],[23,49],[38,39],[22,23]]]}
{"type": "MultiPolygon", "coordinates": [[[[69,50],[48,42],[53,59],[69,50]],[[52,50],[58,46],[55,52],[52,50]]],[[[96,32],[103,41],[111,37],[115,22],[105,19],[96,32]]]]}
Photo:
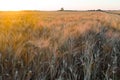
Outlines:
{"type": "Polygon", "coordinates": [[[120,10],[120,0],[0,0],[0,10],[120,10]]]}

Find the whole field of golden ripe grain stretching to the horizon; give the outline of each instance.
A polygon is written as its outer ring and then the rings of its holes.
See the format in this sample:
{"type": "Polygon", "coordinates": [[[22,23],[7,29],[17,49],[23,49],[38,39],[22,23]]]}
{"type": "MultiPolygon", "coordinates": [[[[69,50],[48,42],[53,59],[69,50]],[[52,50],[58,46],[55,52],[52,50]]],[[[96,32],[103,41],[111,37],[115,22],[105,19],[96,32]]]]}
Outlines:
{"type": "Polygon", "coordinates": [[[0,12],[0,80],[120,80],[120,15],[0,12]]]}

